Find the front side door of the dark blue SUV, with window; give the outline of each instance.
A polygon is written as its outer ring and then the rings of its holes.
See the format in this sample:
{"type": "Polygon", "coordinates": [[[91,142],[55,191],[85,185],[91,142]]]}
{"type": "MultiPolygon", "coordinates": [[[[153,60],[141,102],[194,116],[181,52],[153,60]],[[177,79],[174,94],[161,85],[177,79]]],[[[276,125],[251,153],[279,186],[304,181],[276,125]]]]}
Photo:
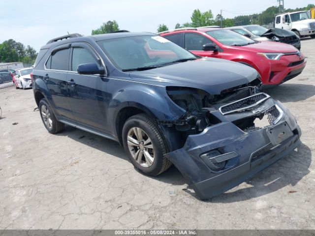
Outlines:
{"type": "Polygon", "coordinates": [[[79,125],[106,132],[108,130],[106,127],[107,79],[99,74],[77,73],[79,64],[96,62],[101,66],[102,61],[92,46],[86,43],[73,43],[70,58],[67,83],[72,115],[79,125]]]}

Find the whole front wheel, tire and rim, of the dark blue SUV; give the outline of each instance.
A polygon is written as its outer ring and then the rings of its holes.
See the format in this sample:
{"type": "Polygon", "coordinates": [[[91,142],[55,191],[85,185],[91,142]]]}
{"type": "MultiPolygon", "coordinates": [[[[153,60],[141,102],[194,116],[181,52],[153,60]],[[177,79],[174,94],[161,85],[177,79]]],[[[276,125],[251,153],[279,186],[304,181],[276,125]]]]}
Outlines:
{"type": "Polygon", "coordinates": [[[172,162],[164,157],[168,147],[163,135],[147,115],[139,114],[128,118],[123,127],[122,137],[129,160],[139,172],[157,176],[172,165],[172,162]],[[138,138],[139,132],[141,138],[138,138]]]}

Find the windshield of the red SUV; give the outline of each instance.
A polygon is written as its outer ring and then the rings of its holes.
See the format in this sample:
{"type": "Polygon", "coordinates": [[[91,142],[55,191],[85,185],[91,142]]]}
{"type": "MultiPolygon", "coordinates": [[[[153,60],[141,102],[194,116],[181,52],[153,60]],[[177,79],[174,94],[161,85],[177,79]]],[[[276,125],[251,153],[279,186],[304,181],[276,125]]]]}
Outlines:
{"type": "Polygon", "coordinates": [[[212,30],[208,31],[207,34],[227,46],[244,46],[256,43],[256,41],[228,29],[212,30]]]}

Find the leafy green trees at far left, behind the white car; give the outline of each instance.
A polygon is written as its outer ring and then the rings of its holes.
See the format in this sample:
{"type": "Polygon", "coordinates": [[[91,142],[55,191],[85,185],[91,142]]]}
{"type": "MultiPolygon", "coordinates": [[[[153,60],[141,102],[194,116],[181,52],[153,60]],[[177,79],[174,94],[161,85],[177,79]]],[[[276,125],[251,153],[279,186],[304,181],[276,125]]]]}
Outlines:
{"type": "Polygon", "coordinates": [[[37,53],[30,45],[24,46],[23,43],[13,39],[6,40],[0,44],[0,62],[21,61],[26,66],[35,62],[37,53]]]}

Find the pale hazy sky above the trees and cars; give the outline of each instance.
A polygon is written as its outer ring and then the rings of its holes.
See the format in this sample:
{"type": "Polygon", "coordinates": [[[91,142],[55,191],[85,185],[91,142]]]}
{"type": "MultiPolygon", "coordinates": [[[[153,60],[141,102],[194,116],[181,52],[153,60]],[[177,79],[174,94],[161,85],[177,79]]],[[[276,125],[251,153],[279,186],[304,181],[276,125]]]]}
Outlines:
{"type": "MultiPolygon", "coordinates": [[[[314,0],[284,0],[285,8],[314,0]]],[[[212,10],[224,18],[259,13],[277,0],[0,0],[0,43],[10,38],[37,52],[52,38],[69,33],[91,35],[103,22],[116,20],[120,29],[156,32],[159,24],[174,29],[190,22],[194,9],[212,10]]]]}

